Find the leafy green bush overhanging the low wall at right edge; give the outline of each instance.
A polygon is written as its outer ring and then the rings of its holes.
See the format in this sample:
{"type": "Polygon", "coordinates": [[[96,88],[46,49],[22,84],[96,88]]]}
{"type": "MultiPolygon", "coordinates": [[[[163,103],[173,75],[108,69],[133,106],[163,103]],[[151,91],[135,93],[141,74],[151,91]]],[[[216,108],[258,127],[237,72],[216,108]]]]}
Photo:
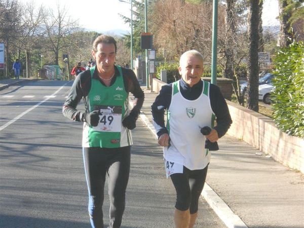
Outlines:
{"type": "Polygon", "coordinates": [[[304,45],[293,43],[275,58],[272,106],[277,127],[304,138],[304,45]]]}

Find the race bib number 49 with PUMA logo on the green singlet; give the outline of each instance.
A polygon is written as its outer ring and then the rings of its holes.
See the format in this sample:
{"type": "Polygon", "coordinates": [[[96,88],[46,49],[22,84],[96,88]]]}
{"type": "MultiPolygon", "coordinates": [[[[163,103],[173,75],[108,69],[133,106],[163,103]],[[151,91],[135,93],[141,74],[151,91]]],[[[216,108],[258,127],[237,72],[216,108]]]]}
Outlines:
{"type": "Polygon", "coordinates": [[[120,132],[122,128],[122,106],[98,105],[99,123],[94,131],[120,132]]]}

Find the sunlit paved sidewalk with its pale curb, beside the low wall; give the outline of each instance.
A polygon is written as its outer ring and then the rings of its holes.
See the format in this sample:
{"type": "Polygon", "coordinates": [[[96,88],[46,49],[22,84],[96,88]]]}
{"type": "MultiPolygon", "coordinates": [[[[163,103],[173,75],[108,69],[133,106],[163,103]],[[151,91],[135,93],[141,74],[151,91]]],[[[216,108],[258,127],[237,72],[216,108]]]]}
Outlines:
{"type": "MultiPolygon", "coordinates": [[[[154,130],[157,93],[142,87],[141,119],[154,130]]],[[[155,139],[156,140],[156,139],[155,139]]],[[[202,195],[227,227],[304,227],[304,176],[225,135],[212,151],[202,195]]]]}

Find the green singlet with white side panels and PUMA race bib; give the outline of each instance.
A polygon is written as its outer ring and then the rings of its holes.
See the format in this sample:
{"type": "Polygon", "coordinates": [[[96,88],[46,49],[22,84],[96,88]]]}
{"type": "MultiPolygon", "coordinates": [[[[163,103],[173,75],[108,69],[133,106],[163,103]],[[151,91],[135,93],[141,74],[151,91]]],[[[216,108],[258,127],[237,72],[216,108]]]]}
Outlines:
{"type": "Polygon", "coordinates": [[[92,112],[99,110],[99,123],[92,127],[84,123],[83,147],[118,148],[132,145],[131,131],[122,125],[128,116],[128,99],[124,86],[122,69],[117,66],[120,76],[113,85],[107,87],[93,79],[95,66],[91,67],[91,89],[88,94],[88,108],[92,112]]]}

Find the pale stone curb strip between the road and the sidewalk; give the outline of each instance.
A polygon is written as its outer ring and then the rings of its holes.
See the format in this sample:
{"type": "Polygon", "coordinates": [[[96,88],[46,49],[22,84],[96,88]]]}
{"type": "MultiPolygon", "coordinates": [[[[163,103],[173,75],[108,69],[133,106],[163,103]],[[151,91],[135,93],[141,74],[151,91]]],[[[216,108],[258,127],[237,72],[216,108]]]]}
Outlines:
{"type": "MultiPolygon", "coordinates": [[[[129,104],[133,107],[133,103],[129,100],[129,104]]],[[[147,128],[153,133],[156,139],[156,134],[153,124],[144,115],[144,112],[140,111],[140,119],[147,126],[147,128]]],[[[242,221],[242,219],[236,215],[228,205],[213,191],[213,189],[205,182],[201,197],[204,197],[209,206],[214,210],[217,216],[222,222],[229,228],[248,228],[248,226],[242,221]]]]}

